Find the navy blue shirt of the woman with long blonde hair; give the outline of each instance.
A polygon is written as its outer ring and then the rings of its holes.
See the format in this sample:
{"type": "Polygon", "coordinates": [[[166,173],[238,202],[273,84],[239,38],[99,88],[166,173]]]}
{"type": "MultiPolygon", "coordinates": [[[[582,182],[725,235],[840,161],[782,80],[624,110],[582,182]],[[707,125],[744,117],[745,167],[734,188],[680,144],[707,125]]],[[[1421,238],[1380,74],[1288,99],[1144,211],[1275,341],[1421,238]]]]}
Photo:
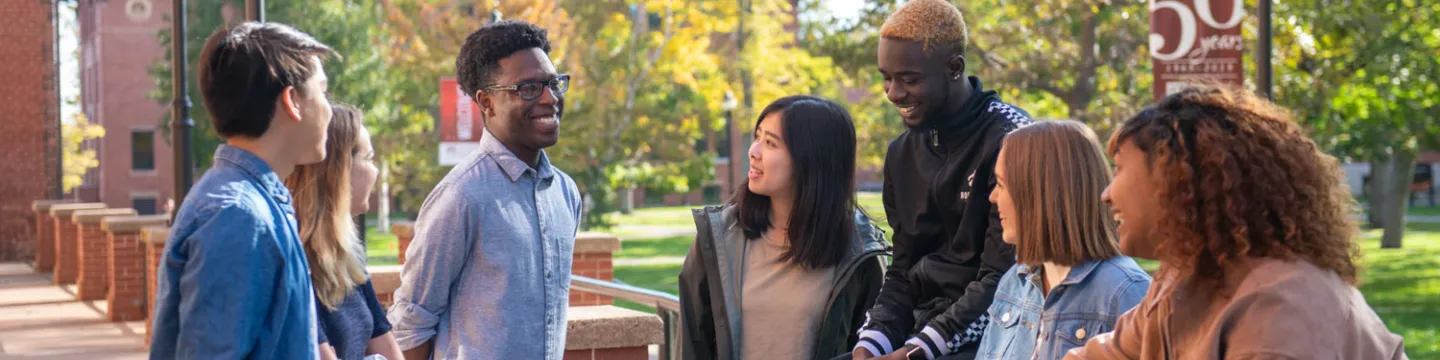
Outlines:
{"type": "Polygon", "coordinates": [[[334,347],[340,360],[364,359],[370,338],[390,333],[390,321],[384,318],[384,308],[369,279],[346,294],[336,310],[327,308],[318,298],[315,308],[320,310],[320,343],[334,347]]]}

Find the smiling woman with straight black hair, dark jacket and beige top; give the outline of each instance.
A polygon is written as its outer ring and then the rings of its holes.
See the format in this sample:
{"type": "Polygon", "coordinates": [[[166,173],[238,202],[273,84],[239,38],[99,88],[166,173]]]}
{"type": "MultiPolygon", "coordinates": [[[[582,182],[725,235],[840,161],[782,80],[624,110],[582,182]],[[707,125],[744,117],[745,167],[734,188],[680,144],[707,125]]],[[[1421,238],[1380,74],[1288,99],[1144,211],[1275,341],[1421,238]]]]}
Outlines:
{"type": "Polygon", "coordinates": [[[694,210],[680,272],[684,359],[850,351],[887,252],[855,206],[850,112],[816,96],[778,99],[756,120],[749,157],[729,204],[694,210]]]}

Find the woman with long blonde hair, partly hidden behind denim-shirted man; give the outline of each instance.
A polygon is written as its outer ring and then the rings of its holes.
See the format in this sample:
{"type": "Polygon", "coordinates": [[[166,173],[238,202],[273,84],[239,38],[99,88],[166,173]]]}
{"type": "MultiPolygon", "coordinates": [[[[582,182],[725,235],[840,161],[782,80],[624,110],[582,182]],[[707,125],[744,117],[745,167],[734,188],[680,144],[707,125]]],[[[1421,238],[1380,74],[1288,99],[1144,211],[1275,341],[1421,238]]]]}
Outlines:
{"type": "Polygon", "coordinates": [[[379,173],[374,148],[359,109],[338,104],[333,109],[325,160],[295,167],[285,179],[315,284],[320,354],[325,360],[399,360],[400,346],[364,272],[364,245],[353,220],[370,209],[379,173]]]}

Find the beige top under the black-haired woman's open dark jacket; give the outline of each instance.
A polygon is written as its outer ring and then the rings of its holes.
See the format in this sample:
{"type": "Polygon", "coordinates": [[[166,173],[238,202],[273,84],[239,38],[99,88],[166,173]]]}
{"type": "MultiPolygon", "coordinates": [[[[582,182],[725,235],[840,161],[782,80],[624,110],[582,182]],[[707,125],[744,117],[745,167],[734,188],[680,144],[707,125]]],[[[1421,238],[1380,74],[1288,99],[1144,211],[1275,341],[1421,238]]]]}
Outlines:
{"type": "Polygon", "coordinates": [[[740,284],[740,359],[809,359],[834,269],[780,262],[786,245],[746,240],[740,284]]]}

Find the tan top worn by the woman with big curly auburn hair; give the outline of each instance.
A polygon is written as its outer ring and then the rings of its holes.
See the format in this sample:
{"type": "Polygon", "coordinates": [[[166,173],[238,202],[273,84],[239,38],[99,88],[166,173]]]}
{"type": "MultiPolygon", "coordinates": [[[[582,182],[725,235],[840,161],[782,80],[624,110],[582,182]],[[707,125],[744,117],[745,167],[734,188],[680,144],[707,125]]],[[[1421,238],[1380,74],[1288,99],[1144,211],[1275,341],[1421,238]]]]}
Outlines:
{"type": "Polygon", "coordinates": [[[1358,289],[1305,261],[1250,259],[1220,291],[1155,278],[1115,331],[1076,359],[1405,359],[1358,289]],[[1169,295],[1171,301],[1156,301],[1169,295]]]}

